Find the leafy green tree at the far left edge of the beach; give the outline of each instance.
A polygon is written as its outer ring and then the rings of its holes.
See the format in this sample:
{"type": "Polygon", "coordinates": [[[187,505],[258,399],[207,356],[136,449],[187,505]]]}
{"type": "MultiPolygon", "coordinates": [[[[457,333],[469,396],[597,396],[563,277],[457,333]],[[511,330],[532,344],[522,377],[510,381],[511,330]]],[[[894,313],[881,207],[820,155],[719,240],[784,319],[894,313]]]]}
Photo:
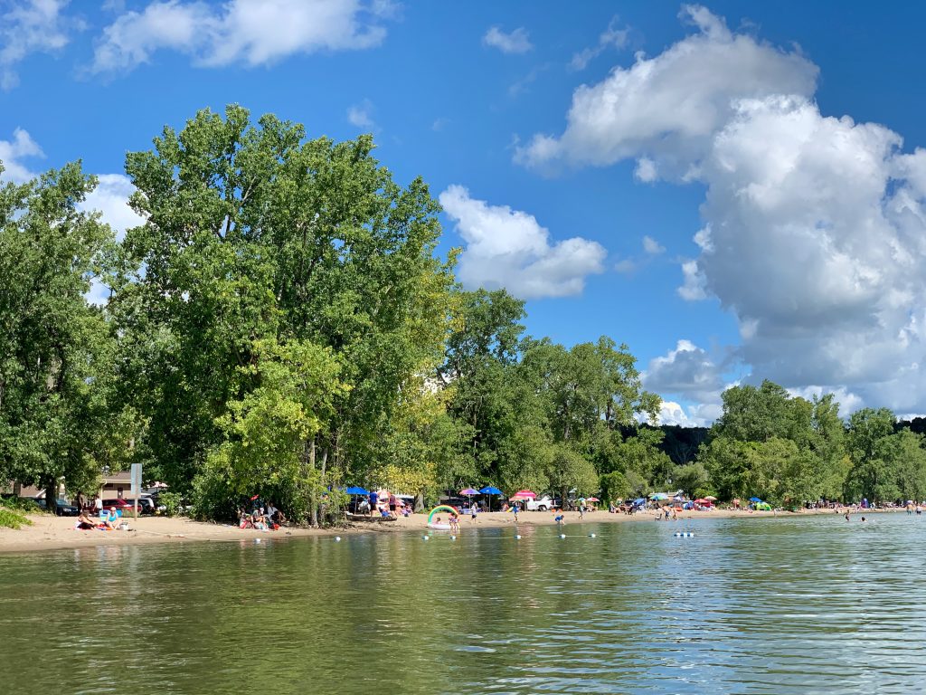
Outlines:
{"type": "MultiPolygon", "coordinates": [[[[0,166],[0,171],[2,166],[0,166]]],[[[112,331],[88,303],[113,234],[79,211],[96,180],[80,163],[0,188],[0,478],[89,485],[109,461],[112,331]]]]}

